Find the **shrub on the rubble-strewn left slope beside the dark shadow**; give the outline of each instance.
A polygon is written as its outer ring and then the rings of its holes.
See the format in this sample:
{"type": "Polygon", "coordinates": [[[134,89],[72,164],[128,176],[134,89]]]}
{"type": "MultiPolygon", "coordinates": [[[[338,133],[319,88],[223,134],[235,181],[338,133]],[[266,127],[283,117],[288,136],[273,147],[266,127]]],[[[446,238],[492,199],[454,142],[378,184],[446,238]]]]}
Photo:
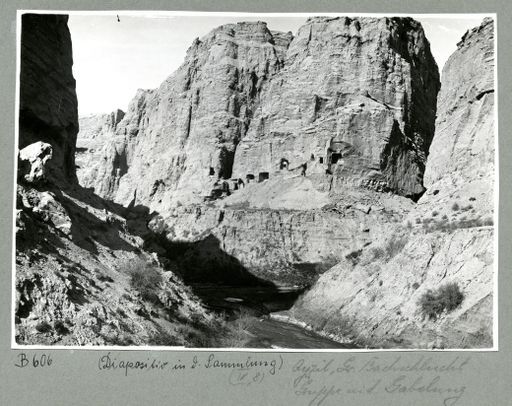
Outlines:
{"type": "Polygon", "coordinates": [[[126,261],[123,269],[130,276],[130,285],[141,294],[144,300],[158,302],[157,292],[162,283],[158,268],[144,260],[126,261]]]}

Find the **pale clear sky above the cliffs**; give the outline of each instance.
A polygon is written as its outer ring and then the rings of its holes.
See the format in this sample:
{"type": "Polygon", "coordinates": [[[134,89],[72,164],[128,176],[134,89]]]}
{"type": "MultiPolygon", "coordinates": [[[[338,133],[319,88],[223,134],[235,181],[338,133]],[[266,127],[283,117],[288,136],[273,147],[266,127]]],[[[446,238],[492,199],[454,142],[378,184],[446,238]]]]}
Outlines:
{"type": "MultiPolygon", "coordinates": [[[[425,30],[440,71],[464,33],[483,15],[415,16],[425,30]]],[[[71,14],[73,74],[80,116],[126,111],[137,89],[152,89],[185,59],[192,41],[222,24],[266,21],[270,30],[294,34],[307,19],[272,15],[71,14]]]]}

